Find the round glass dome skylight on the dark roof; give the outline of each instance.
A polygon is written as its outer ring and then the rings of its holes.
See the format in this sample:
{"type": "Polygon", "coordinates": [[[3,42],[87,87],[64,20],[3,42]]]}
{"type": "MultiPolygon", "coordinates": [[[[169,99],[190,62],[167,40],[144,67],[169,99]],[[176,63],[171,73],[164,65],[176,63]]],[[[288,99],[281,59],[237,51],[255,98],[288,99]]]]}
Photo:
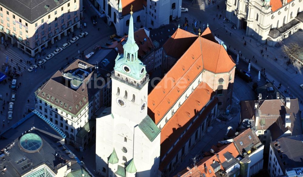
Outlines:
{"type": "Polygon", "coordinates": [[[19,140],[20,146],[27,152],[37,152],[42,148],[42,139],[35,133],[26,133],[19,140]]]}

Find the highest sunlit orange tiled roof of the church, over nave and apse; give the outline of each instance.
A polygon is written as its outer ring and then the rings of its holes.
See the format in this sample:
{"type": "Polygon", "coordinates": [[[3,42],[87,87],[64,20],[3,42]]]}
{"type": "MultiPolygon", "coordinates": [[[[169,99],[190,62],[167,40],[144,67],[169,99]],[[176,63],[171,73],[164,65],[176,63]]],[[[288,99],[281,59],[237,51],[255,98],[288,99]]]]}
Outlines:
{"type": "MultiPolygon", "coordinates": [[[[178,28],[173,36],[178,34],[180,39],[189,33],[182,30],[181,35],[180,30],[182,29],[178,28]]],[[[178,43],[182,44],[183,42],[178,43]]],[[[222,45],[198,37],[149,93],[148,115],[158,124],[203,69],[212,73],[227,73],[234,67],[234,61],[222,45]]]]}

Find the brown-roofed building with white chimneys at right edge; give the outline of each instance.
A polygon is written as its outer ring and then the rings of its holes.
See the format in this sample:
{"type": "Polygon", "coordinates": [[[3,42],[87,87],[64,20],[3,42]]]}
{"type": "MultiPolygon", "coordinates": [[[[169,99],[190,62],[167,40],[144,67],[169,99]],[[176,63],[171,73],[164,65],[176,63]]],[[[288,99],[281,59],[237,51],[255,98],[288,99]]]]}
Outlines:
{"type": "Polygon", "coordinates": [[[264,144],[265,155],[269,143],[283,136],[302,134],[298,99],[241,101],[241,121],[253,120],[255,132],[264,144]]]}

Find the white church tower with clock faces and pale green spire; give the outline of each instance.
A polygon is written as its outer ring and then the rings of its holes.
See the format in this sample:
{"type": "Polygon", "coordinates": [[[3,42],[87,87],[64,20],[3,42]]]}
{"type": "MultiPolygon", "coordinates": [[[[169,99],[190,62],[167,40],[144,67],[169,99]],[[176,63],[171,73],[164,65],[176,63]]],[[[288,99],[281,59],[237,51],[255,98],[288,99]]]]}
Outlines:
{"type": "Polygon", "coordinates": [[[124,54],[112,72],[112,107],[96,124],[96,169],[114,177],[158,176],[160,129],[147,115],[148,74],[138,59],[132,11],[124,54]]]}

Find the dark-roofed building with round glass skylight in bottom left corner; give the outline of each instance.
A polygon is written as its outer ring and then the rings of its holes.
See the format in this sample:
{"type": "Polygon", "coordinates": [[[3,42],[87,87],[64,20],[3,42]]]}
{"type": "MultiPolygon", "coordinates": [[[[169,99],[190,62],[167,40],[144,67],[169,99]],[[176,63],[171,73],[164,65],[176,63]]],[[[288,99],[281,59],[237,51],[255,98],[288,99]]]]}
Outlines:
{"type": "Polygon", "coordinates": [[[1,134],[1,176],[90,176],[64,141],[65,135],[44,116],[28,114],[1,134]]]}

